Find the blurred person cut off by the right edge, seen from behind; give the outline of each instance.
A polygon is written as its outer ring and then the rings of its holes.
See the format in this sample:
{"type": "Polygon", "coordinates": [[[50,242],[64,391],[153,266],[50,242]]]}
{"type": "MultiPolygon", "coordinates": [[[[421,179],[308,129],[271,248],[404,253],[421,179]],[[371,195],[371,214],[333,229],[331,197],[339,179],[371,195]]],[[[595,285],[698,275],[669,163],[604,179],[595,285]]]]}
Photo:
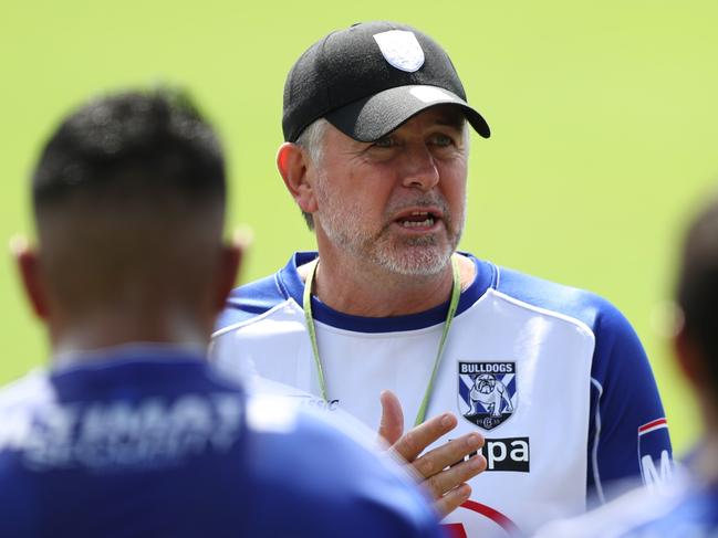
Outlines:
{"type": "Polygon", "coordinates": [[[635,490],[575,520],[549,525],[542,537],[718,536],[718,199],[686,234],[676,303],[674,350],[698,399],[703,441],[664,487],[635,490]]]}

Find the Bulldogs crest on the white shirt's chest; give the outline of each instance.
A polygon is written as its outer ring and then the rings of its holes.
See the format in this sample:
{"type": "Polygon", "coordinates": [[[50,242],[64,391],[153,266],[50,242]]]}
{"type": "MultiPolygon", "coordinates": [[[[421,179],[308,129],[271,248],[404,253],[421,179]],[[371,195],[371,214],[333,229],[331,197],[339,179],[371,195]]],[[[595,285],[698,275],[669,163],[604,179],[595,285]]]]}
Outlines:
{"type": "Polygon", "coordinates": [[[517,403],[516,362],[459,362],[459,411],[485,430],[508,420],[517,403]]]}

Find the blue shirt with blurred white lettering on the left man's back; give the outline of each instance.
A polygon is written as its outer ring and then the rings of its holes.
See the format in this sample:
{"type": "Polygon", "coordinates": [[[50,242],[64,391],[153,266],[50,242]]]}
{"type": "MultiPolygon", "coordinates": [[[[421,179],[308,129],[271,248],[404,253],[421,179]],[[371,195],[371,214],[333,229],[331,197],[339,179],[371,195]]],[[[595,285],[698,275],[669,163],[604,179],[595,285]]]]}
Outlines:
{"type": "Polygon", "coordinates": [[[201,355],[138,346],[0,391],[0,536],[440,535],[388,456],[201,355]]]}

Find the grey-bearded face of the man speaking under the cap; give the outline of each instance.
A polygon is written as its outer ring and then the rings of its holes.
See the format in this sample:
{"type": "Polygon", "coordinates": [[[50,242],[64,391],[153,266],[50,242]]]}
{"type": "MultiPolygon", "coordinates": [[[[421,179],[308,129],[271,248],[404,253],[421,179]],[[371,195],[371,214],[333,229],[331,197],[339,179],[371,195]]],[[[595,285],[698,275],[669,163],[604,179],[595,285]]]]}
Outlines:
{"type": "Polygon", "coordinates": [[[452,106],[429,108],[375,143],[326,129],[318,233],[394,273],[441,271],[464,228],[468,147],[452,106]]]}

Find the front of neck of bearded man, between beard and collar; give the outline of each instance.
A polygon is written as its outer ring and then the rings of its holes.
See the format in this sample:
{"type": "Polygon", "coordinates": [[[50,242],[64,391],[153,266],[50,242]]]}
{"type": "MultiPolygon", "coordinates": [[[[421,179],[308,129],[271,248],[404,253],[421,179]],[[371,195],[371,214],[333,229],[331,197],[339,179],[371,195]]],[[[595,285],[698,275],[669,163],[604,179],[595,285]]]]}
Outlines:
{"type": "MultiPolygon", "coordinates": [[[[461,289],[476,276],[474,263],[459,255],[461,289]]],[[[368,264],[365,264],[368,265],[368,264]]],[[[308,265],[299,267],[306,282],[308,265]]],[[[320,252],[313,293],[329,307],[354,316],[391,317],[417,314],[449,299],[452,287],[450,262],[434,275],[400,275],[355,262],[327,261],[320,252]]]]}

